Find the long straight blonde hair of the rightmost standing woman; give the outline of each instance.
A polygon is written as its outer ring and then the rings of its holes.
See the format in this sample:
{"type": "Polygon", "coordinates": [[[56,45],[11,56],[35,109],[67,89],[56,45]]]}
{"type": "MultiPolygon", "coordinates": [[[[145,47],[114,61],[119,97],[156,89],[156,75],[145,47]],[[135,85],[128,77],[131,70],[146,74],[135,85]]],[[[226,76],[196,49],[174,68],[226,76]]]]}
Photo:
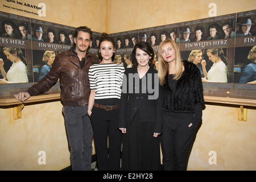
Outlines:
{"type": "Polygon", "coordinates": [[[180,56],[180,51],[179,51],[179,47],[177,46],[177,44],[174,42],[174,40],[172,39],[166,39],[164,40],[160,45],[159,45],[159,49],[158,49],[158,77],[159,77],[159,83],[160,85],[163,85],[165,82],[165,77],[169,71],[169,64],[166,63],[166,61],[163,60],[162,57],[162,48],[165,44],[172,44],[172,46],[175,49],[175,74],[174,74],[174,80],[179,80],[179,78],[181,77],[182,73],[183,73],[183,63],[181,60],[181,56],[180,56]]]}

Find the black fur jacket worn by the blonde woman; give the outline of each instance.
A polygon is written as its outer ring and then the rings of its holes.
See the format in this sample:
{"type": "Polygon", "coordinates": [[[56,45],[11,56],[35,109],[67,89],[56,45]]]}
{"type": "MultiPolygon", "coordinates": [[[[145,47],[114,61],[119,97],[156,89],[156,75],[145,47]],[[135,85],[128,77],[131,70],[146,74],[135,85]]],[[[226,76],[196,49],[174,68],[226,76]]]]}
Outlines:
{"type": "Polygon", "coordinates": [[[168,85],[168,74],[162,88],[162,107],[167,112],[195,113],[195,105],[204,105],[203,84],[195,64],[183,61],[184,71],[177,80],[176,91],[168,85]]]}

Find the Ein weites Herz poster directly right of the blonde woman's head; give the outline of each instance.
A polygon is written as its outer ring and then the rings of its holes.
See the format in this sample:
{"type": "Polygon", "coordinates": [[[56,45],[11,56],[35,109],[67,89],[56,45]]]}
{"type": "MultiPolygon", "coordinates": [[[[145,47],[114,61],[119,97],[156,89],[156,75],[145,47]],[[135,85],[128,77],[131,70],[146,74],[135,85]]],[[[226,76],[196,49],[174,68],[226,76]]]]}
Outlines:
{"type": "Polygon", "coordinates": [[[200,70],[203,82],[233,82],[236,14],[180,23],[183,60],[200,70]]]}

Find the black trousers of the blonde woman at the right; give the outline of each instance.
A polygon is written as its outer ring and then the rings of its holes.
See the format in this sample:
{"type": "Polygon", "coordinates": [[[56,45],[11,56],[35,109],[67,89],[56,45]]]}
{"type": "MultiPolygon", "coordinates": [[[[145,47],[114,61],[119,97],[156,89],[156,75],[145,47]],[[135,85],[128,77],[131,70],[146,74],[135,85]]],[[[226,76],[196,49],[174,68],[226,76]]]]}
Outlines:
{"type": "Polygon", "coordinates": [[[161,146],[164,170],[187,170],[188,158],[201,126],[192,113],[163,113],[161,146]]]}

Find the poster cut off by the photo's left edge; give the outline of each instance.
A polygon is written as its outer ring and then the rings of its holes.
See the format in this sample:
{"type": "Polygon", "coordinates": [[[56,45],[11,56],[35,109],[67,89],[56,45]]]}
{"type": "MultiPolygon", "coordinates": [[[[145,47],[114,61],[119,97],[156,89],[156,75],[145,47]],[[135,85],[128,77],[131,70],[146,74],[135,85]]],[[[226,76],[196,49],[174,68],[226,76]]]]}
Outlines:
{"type": "Polygon", "coordinates": [[[33,81],[30,19],[0,12],[0,84],[33,81]]]}

